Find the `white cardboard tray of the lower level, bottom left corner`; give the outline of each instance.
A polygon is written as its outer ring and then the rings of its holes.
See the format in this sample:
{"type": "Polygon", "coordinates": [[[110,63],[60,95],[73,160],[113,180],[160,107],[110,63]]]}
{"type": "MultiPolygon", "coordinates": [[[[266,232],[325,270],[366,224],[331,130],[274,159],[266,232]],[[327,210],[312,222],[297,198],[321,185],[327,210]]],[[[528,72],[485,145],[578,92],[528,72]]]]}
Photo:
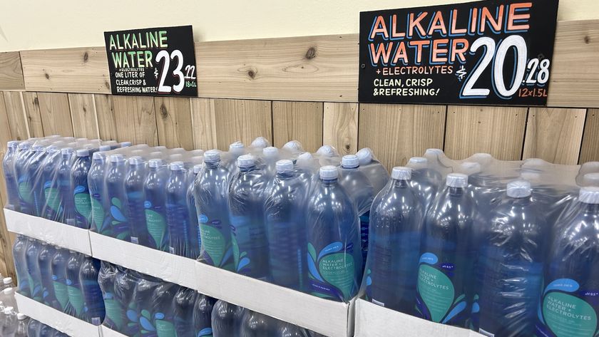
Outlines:
{"type": "Polygon", "coordinates": [[[16,305],[19,306],[19,311],[27,316],[34,318],[36,321],[51,326],[58,331],[62,331],[71,337],[101,337],[100,326],[94,326],[81,319],[69,316],[66,313],[58,311],[29,299],[21,294],[15,294],[16,305]]]}

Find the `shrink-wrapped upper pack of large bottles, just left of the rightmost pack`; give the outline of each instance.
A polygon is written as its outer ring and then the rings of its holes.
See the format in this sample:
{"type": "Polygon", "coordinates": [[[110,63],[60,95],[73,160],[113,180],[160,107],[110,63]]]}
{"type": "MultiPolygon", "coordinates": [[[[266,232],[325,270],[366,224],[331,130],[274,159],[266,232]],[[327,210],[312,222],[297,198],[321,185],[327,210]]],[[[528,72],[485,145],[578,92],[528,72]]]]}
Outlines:
{"type": "Polygon", "coordinates": [[[205,152],[194,187],[200,261],[349,301],[359,290],[368,212],[386,170],[369,149],[342,160],[329,145],[313,155],[297,141],[280,150],[267,145],[205,152]]]}

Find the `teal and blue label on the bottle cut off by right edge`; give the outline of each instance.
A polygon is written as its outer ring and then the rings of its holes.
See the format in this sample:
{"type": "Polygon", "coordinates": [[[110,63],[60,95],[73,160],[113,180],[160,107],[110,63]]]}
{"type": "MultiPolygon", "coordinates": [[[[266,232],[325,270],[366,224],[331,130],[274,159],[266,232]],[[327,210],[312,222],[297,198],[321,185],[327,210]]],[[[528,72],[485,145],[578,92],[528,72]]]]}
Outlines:
{"type": "Polygon", "coordinates": [[[598,336],[597,312],[585,301],[596,296],[599,296],[599,291],[580,289],[578,282],[573,279],[551,282],[543,291],[539,311],[539,319],[544,324],[541,330],[551,331],[556,337],[598,336]]]}

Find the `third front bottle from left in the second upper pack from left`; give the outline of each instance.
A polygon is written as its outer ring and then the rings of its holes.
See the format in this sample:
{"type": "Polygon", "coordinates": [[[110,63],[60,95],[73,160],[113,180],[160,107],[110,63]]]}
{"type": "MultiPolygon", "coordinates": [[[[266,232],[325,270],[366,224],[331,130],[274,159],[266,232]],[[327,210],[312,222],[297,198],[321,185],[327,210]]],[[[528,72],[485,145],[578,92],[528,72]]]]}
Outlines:
{"type": "Polygon", "coordinates": [[[126,214],[128,217],[131,242],[148,246],[148,227],[145,224],[145,162],[142,157],[130,157],[125,176],[126,214]]]}

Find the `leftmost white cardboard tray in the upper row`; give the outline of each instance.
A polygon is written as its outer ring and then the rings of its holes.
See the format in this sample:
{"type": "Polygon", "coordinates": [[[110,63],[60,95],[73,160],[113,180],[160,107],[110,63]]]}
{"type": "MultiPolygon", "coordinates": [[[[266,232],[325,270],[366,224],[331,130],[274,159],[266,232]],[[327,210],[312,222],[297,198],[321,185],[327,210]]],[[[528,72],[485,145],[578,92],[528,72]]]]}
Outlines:
{"type": "Polygon", "coordinates": [[[68,226],[42,217],[34,217],[24,213],[4,209],[6,227],[10,232],[23,234],[39,239],[58,247],[92,255],[88,229],[68,226]]]}

